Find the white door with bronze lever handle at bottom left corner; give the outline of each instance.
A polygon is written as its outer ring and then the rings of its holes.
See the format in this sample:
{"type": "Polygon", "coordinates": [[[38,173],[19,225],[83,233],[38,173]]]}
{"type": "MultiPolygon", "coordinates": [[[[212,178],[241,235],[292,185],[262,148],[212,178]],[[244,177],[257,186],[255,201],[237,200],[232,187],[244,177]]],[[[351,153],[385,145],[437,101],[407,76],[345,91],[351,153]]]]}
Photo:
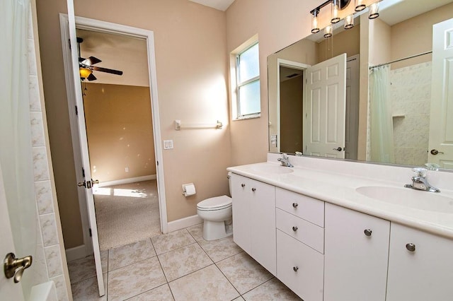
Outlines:
{"type": "MultiPolygon", "coordinates": [[[[11,224],[9,223],[8,206],[6,204],[6,194],[3,184],[3,177],[0,169],[0,256],[4,256],[10,252],[15,252],[13,243],[13,234],[11,232],[11,224]]],[[[27,273],[27,271],[25,271],[27,273]]],[[[1,268],[0,276],[0,300],[17,300],[23,301],[23,293],[21,283],[14,283],[13,278],[7,279],[4,276],[3,268],[1,268]]]]}

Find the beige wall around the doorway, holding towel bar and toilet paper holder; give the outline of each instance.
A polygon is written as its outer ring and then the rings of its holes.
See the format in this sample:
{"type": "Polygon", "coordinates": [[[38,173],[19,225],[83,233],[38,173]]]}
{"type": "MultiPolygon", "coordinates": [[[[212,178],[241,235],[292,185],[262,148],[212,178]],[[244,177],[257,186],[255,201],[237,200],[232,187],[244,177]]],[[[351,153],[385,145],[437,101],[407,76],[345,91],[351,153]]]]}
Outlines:
{"type": "MultiPolygon", "coordinates": [[[[154,31],[160,126],[174,149],[164,151],[168,221],[196,214],[196,203],[227,194],[231,145],[226,93],[225,13],[186,0],[74,1],[76,16],[154,31]],[[222,130],[174,130],[184,123],[224,122],[222,130]],[[194,182],[197,194],[181,195],[194,182]]],[[[64,83],[58,13],[66,1],[38,2],[42,73],[55,182],[66,247],[83,243],[64,83]]],[[[266,93],[264,93],[266,95],[266,93]]],[[[264,131],[265,135],[267,131],[264,131]]],[[[262,145],[267,145],[264,138],[262,145]]],[[[263,154],[265,150],[263,151],[263,154]]],[[[264,156],[262,156],[265,158],[264,156]]]]}

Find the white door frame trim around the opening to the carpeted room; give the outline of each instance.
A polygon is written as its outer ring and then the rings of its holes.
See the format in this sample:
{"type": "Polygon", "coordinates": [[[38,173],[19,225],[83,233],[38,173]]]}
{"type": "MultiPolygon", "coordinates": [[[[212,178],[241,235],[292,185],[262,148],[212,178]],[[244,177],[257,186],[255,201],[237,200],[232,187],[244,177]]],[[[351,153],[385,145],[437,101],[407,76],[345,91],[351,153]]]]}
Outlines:
{"type": "MultiPolygon", "coordinates": [[[[161,141],[161,133],[160,133],[160,126],[159,126],[159,103],[157,100],[157,85],[156,85],[156,71],[155,71],[155,61],[154,61],[154,37],[153,33],[149,30],[142,30],[139,28],[131,28],[129,26],[125,25],[118,25],[118,24],[113,24],[113,23],[106,23],[103,21],[98,21],[98,20],[92,20],[88,18],[81,18],[81,17],[76,17],[76,28],[77,30],[88,30],[96,33],[105,33],[105,34],[113,34],[113,35],[119,35],[122,37],[129,37],[131,39],[142,39],[145,41],[145,44],[147,46],[147,63],[144,64],[142,61],[140,64],[147,66],[147,76],[148,76],[148,86],[150,87],[149,89],[149,98],[150,98],[150,104],[151,104],[151,112],[149,114],[152,115],[152,132],[154,136],[154,153],[155,153],[155,158],[154,158],[154,163],[149,162],[148,165],[154,165],[156,167],[156,186],[157,186],[157,191],[158,191],[158,203],[159,203],[159,217],[160,217],[160,230],[161,232],[168,232],[168,225],[167,225],[167,220],[166,220],[166,201],[165,201],[165,189],[164,189],[164,167],[163,167],[163,160],[162,160],[162,149],[161,149],[161,144],[159,141],[161,141]]],[[[69,39],[69,24],[68,24],[68,18],[66,15],[60,15],[60,24],[62,27],[62,40],[65,42],[69,39]]],[[[64,45],[66,46],[66,45],[64,45]]],[[[68,91],[68,102],[69,102],[69,108],[70,108],[70,122],[71,122],[71,134],[72,134],[72,141],[73,141],[73,148],[74,148],[74,161],[76,163],[76,166],[80,166],[80,168],[76,168],[76,173],[77,173],[77,179],[79,181],[83,181],[84,179],[84,170],[82,169],[82,162],[85,162],[82,160],[83,156],[83,148],[88,149],[87,145],[87,139],[81,139],[79,136],[84,136],[83,134],[86,133],[86,129],[83,126],[82,129],[79,130],[79,125],[78,125],[78,120],[76,116],[76,112],[73,112],[74,107],[76,107],[76,88],[79,88],[80,85],[74,85],[74,80],[72,80],[71,75],[72,75],[72,63],[71,63],[71,51],[69,47],[64,47],[63,49],[64,52],[64,66],[66,69],[65,76],[67,77],[67,91],[68,91]],[[68,83],[72,83],[68,84],[68,83]],[[80,133],[80,131],[85,131],[85,133],[80,133]]],[[[102,59],[102,58],[101,58],[102,59]]],[[[113,69],[113,67],[112,67],[113,69]]],[[[94,71],[96,72],[96,71],[94,71]]],[[[95,73],[96,77],[101,76],[100,73],[95,73]]],[[[93,85],[98,85],[98,84],[93,84],[93,85]]],[[[90,90],[90,85],[88,85],[88,81],[86,84],[87,90],[85,91],[89,93],[90,90]]],[[[91,90],[93,91],[93,86],[91,86],[91,90]]],[[[101,89],[102,90],[102,89],[101,89]]],[[[105,89],[104,89],[105,91],[105,89]]],[[[75,111],[75,110],[74,110],[75,111]]],[[[89,143],[89,141],[88,141],[89,143]]],[[[88,151],[86,151],[88,154],[88,151]]],[[[149,158],[147,158],[149,159],[149,158]]],[[[151,161],[153,159],[151,158],[151,161]]],[[[92,168],[86,168],[89,169],[90,171],[94,169],[94,165],[91,165],[92,168]]],[[[97,167],[97,166],[96,166],[97,167]]],[[[130,166],[122,166],[122,168],[125,167],[130,167],[130,166]]],[[[89,173],[90,175],[92,174],[91,172],[89,173]]],[[[93,179],[96,179],[96,172],[93,172],[93,179]]],[[[147,179],[149,180],[149,179],[147,179]]],[[[125,183],[118,183],[114,181],[107,181],[108,184],[110,185],[115,185],[115,184],[125,184],[125,183]],[[110,182],[110,183],[109,183],[110,182]]],[[[79,191],[79,205],[81,209],[81,218],[82,218],[82,227],[84,228],[84,244],[85,244],[85,252],[80,252],[79,258],[86,256],[88,254],[93,254],[93,245],[91,244],[91,237],[89,235],[90,231],[90,218],[88,218],[88,206],[87,206],[87,196],[84,193],[84,189],[81,189],[79,191]]],[[[89,202],[88,202],[89,203],[89,202]]],[[[96,254],[95,254],[96,256],[96,254]]],[[[74,259],[74,257],[72,258],[74,259]]]]}

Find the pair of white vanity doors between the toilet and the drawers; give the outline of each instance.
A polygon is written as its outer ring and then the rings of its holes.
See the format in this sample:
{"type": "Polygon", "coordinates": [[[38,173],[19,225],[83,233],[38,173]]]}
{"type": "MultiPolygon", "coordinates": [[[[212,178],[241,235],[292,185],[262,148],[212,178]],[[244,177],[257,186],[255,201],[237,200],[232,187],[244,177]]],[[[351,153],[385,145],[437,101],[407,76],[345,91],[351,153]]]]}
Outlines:
{"type": "Polygon", "coordinates": [[[231,197],[234,242],[275,275],[275,187],[233,174],[231,197]]]}

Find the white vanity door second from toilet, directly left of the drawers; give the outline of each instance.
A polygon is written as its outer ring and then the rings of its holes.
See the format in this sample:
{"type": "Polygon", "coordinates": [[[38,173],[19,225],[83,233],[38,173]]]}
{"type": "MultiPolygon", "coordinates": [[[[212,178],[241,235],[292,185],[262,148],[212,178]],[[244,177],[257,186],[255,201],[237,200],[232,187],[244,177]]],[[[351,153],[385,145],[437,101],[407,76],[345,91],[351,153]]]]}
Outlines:
{"type": "Polygon", "coordinates": [[[277,251],[275,249],[275,187],[253,179],[251,207],[247,218],[252,220],[252,256],[275,275],[277,251]]]}

